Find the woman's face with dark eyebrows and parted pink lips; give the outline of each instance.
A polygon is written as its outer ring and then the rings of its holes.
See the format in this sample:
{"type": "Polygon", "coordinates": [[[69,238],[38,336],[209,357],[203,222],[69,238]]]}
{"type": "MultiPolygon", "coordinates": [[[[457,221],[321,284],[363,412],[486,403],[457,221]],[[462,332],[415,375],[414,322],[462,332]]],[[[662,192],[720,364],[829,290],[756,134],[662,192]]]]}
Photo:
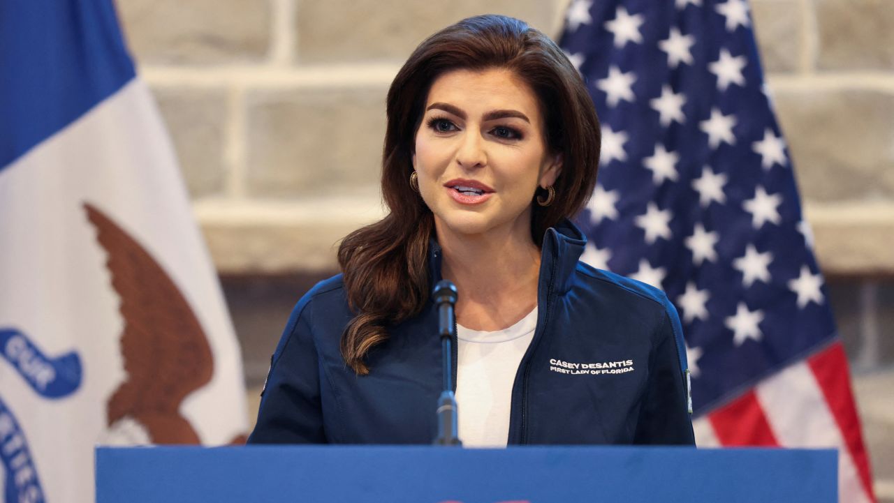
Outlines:
{"type": "Polygon", "coordinates": [[[512,71],[457,70],[434,80],[413,167],[439,236],[530,239],[536,188],[552,185],[561,170],[543,131],[536,95],[512,71]]]}

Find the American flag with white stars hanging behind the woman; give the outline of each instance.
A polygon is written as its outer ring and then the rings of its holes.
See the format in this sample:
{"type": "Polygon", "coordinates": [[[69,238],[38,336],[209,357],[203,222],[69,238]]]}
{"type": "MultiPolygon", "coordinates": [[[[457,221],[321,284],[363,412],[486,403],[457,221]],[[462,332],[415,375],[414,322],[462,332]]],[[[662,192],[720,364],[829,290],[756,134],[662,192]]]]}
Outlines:
{"type": "Polygon", "coordinates": [[[792,163],[744,0],[575,0],[561,46],[602,121],[586,262],[679,309],[702,446],[839,448],[869,460],[792,163]]]}

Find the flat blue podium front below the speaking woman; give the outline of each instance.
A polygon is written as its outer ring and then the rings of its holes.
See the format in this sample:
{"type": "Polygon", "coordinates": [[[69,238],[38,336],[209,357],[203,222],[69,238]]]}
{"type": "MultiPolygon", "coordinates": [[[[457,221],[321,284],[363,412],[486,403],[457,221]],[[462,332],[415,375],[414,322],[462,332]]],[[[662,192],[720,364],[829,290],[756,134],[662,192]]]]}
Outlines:
{"type": "Polygon", "coordinates": [[[97,503],[838,500],[834,450],[97,448],[97,503]]]}

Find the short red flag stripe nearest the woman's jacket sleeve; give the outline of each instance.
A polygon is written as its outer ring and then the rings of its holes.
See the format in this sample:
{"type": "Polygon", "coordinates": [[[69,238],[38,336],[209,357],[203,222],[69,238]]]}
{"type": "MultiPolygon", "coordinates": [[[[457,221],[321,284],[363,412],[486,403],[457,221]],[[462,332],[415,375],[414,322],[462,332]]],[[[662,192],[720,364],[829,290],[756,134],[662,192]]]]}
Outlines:
{"type": "Polygon", "coordinates": [[[770,423],[763,415],[763,408],[757,401],[755,390],[708,415],[717,440],[723,446],[765,446],[779,445],[770,423]]]}

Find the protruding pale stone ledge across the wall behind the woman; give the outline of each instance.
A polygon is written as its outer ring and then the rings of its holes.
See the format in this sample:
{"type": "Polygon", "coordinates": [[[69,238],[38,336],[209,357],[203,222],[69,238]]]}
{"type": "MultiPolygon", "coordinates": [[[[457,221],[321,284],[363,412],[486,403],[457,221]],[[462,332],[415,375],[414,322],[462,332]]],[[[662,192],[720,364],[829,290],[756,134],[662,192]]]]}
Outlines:
{"type": "MultiPolygon", "coordinates": [[[[301,203],[202,201],[194,208],[222,274],[333,271],[338,241],[384,215],[372,194],[301,203]]],[[[826,275],[894,274],[894,204],[808,204],[805,215],[826,275]]]]}

